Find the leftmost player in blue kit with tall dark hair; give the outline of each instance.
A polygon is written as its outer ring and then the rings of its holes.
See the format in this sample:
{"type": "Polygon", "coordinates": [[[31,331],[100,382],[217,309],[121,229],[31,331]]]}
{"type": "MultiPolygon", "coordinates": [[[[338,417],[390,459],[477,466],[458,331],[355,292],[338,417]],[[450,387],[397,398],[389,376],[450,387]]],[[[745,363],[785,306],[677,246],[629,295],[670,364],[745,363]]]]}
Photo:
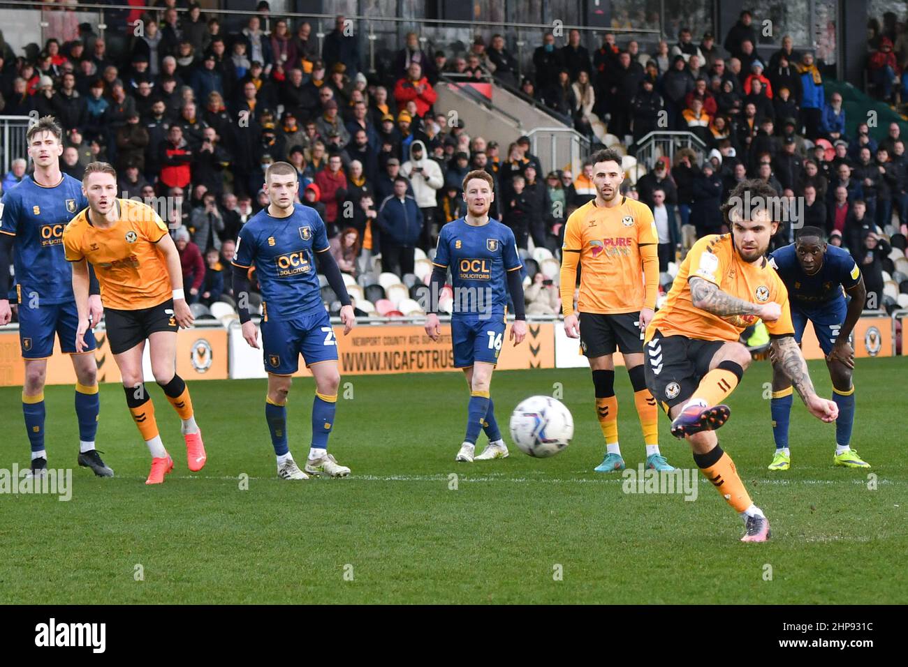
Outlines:
{"type": "MultiPolygon", "coordinates": [[[[79,422],[79,466],[95,475],[114,476],[94,448],[100,401],[94,335],[85,333],[86,348],[77,352],[79,318],[73,297],[73,270],[66,261],[64,227],[88,206],[82,183],[60,172],[63,130],[53,116],[44,116],[25,133],[28,156],[35,172],[6,191],[0,203],[0,325],[7,324],[9,266],[15,266],[15,301],[19,313],[19,342],[25,361],[22,411],[32,448],[31,474],[44,475],[44,381],[47,359],[54,354],[54,335],[60,349],[73,359],[75,414],[79,422]],[[15,252],[14,252],[15,251],[15,252]],[[14,259],[15,256],[15,259],[14,259]]],[[[92,325],[104,312],[94,272],[90,274],[89,314],[92,325]]]]}

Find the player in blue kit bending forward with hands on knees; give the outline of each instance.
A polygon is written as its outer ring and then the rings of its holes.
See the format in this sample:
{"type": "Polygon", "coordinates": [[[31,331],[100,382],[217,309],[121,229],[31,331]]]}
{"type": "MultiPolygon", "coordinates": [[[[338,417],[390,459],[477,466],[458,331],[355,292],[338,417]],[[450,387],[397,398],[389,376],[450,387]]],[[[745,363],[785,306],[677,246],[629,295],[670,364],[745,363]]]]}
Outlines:
{"type": "MultiPolygon", "coordinates": [[[[869,468],[851,448],[854,426],[854,348],[850,343],[854,325],[864,309],[864,278],[852,256],[841,248],[827,245],[824,233],[804,227],[795,242],[773,251],[770,263],[788,289],[795,340],[800,344],[809,319],[826,355],[826,367],[833,381],[833,400],[839,407],[835,420],[834,465],[869,468]],[[851,300],[845,301],[845,293],[851,300]]],[[[771,412],[775,456],[770,470],[788,470],[791,453],[788,445],[788,420],[792,407],[791,382],[779,368],[773,369],[771,412]]]]}

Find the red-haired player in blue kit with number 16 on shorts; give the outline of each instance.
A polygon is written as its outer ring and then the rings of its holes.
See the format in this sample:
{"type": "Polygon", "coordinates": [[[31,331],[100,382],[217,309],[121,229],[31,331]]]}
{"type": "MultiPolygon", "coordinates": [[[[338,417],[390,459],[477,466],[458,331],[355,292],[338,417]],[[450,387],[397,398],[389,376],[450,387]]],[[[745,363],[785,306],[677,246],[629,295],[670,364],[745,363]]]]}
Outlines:
{"type": "Polygon", "coordinates": [[[524,316],[523,265],[514,240],[514,232],[489,218],[494,200],[494,181],[482,170],[469,172],[463,180],[463,198],[467,214],[441,228],[429,294],[431,304],[426,318],[426,333],[433,340],[441,335],[438,297],[448,270],[454,289],[451,315],[451,343],[454,366],[462,368],[469,385],[467,435],[457,461],[507,458],[505,445],[495,419],[489,396],[492,371],[508,327],[508,291],[514,302],[514,324],[509,339],[518,345],[527,335],[524,316]],[[479,430],[485,429],[489,445],[479,456],[473,456],[479,430]]]}

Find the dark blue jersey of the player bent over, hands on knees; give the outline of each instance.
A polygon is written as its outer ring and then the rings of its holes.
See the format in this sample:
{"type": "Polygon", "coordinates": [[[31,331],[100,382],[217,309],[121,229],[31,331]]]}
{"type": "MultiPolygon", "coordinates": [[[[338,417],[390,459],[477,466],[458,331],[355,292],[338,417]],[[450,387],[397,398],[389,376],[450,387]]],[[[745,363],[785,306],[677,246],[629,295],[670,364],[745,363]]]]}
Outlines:
{"type": "Polygon", "coordinates": [[[813,276],[801,268],[794,243],[770,253],[769,262],[785,282],[789,299],[804,307],[839,299],[843,287],[851,289],[861,281],[861,270],[852,256],[837,246],[826,246],[823,266],[813,276]]]}

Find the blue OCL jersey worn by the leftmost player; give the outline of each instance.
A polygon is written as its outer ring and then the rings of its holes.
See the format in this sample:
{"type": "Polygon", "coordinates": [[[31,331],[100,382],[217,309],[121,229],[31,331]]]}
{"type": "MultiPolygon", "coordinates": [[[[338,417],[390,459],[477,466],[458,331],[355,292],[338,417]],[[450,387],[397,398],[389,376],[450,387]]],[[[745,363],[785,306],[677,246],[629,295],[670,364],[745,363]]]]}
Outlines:
{"type": "Polygon", "coordinates": [[[15,282],[19,297],[36,294],[46,304],[73,300],[73,269],[63,247],[64,227],[88,207],[82,183],[64,174],[53,188],[25,176],[6,191],[0,232],[15,236],[15,282]]]}

